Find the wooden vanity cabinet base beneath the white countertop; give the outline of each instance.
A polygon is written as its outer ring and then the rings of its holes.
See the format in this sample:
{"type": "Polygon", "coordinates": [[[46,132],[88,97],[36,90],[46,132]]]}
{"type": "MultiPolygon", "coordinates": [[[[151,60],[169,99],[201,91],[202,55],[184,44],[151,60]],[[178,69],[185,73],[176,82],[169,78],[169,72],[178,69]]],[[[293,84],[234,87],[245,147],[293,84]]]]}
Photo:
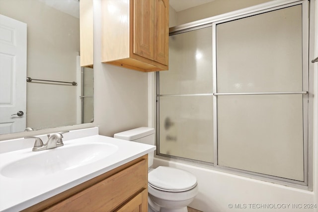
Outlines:
{"type": "Polygon", "coordinates": [[[148,155],[88,180],[25,212],[147,212],[148,155]]]}

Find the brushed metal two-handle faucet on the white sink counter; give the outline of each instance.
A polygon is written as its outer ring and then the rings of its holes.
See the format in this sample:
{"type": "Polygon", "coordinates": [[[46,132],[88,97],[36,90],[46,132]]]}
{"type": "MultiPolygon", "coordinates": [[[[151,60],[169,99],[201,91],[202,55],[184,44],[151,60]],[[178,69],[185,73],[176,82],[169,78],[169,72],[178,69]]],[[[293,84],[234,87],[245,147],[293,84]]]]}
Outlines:
{"type": "Polygon", "coordinates": [[[62,134],[67,132],[70,132],[70,131],[64,131],[64,132],[53,133],[51,135],[48,135],[48,141],[45,144],[43,144],[43,141],[39,137],[29,136],[25,138],[35,138],[34,147],[32,151],[36,152],[36,151],[49,150],[49,149],[63,146],[64,143],[62,140],[63,138],[62,134]]]}

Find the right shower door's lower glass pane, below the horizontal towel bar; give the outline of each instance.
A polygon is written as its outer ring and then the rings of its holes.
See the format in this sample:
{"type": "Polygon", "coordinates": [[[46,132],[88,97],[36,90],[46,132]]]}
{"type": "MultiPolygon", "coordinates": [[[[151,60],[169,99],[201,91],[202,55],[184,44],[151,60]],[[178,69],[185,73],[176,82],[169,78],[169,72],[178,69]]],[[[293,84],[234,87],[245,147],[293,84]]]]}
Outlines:
{"type": "Polygon", "coordinates": [[[218,165],[304,181],[303,95],[218,96],[218,165]]]}

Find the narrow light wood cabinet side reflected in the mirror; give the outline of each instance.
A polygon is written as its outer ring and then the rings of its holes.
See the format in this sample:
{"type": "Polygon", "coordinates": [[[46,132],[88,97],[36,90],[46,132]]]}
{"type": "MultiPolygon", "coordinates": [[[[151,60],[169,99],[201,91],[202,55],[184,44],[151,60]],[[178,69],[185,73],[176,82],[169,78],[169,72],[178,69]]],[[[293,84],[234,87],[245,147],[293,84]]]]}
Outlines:
{"type": "Polygon", "coordinates": [[[93,67],[93,0],[79,1],[80,66],[93,67]]]}

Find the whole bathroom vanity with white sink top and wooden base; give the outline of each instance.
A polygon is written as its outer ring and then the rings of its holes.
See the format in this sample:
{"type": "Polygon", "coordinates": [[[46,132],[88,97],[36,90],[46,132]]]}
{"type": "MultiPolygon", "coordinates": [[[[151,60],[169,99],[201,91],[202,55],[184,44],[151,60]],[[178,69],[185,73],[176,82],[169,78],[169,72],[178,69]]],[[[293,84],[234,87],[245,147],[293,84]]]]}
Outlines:
{"type": "Polygon", "coordinates": [[[28,146],[15,151],[0,142],[1,212],[147,211],[155,146],[100,136],[98,128],[63,136],[64,146],[41,152],[32,152],[32,139],[11,141],[28,146]]]}

